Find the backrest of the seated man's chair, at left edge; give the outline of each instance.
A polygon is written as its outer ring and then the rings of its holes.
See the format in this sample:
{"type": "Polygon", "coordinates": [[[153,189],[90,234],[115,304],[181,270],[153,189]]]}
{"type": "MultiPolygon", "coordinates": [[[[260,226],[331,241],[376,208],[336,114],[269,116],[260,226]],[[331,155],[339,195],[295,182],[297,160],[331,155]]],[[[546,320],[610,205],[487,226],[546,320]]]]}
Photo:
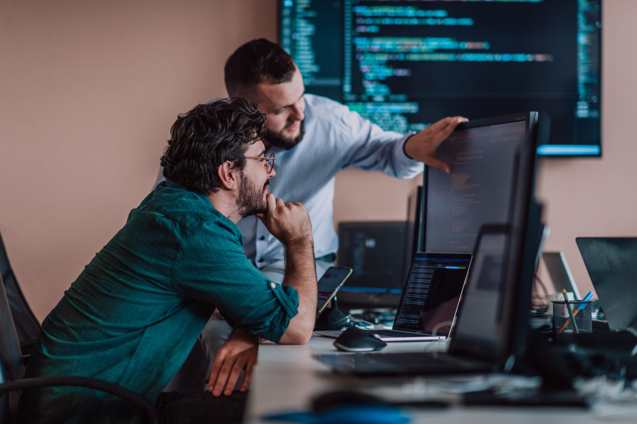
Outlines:
{"type": "MultiPolygon", "coordinates": [[[[0,384],[21,380],[24,376],[24,362],[18,334],[13,325],[11,309],[0,278],[0,384]]],[[[0,423],[8,423],[10,411],[18,407],[18,393],[10,392],[0,397],[0,423]]]]}

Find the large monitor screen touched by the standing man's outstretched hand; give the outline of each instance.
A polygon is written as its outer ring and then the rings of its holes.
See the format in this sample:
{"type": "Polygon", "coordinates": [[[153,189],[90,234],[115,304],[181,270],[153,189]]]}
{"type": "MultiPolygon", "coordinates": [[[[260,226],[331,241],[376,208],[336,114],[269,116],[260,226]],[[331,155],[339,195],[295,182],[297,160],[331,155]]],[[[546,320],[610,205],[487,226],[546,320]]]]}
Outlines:
{"type": "Polygon", "coordinates": [[[452,171],[424,173],[425,252],[475,253],[483,225],[511,222],[515,167],[537,122],[536,112],[468,121],[438,147],[452,171]]]}

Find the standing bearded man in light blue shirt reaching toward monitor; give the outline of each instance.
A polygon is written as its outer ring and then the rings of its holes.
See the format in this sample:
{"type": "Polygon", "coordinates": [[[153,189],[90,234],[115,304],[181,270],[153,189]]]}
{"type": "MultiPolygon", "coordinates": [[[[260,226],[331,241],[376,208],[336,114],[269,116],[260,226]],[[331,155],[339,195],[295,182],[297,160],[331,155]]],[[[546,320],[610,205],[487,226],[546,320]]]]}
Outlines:
{"type": "MultiPolygon", "coordinates": [[[[343,104],[305,93],[303,76],[292,57],[267,39],[248,41],[234,51],[225,63],[224,80],[231,97],[255,102],[267,116],[264,144],[268,154],[276,153],[276,167],[282,170],[272,187],[283,200],[298,200],[307,207],[318,277],[333,266],[338,250],[333,220],[335,175],[354,166],[406,179],[419,175],[424,164],[449,172],[449,165],[436,158],[436,148],[466,121],[454,116],[417,133],[383,131],[343,104]]],[[[255,217],[246,217],[238,226],[248,259],[271,281],[281,282],[283,245],[255,217]]],[[[170,387],[201,387],[230,331],[223,320],[212,316],[201,345],[193,348],[170,387]]]]}

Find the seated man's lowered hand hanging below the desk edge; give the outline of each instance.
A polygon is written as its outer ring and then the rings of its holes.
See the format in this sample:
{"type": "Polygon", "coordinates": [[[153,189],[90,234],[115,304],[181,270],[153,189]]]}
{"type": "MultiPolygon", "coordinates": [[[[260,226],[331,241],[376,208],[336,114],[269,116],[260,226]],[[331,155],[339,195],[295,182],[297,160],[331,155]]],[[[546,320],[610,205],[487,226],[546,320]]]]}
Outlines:
{"type": "Polygon", "coordinates": [[[241,392],[248,390],[252,379],[252,369],[257,363],[259,338],[247,331],[236,329],[230,334],[224,345],[219,348],[210,376],[206,378],[208,392],[213,396],[229,395],[234,390],[241,371],[245,369],[241,392]],[[225,390],[224,390],[225,387],[225,390]]]}

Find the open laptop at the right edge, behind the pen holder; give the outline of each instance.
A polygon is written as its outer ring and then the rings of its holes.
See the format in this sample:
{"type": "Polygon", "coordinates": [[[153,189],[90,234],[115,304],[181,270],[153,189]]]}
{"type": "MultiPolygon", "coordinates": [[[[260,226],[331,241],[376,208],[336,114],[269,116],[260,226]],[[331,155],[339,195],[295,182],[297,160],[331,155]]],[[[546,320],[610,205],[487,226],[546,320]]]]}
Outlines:
{"type": "Polygon", "coordinates": [[[637,238],[575,239],[611,330],[637,329],[637,238]]]}

